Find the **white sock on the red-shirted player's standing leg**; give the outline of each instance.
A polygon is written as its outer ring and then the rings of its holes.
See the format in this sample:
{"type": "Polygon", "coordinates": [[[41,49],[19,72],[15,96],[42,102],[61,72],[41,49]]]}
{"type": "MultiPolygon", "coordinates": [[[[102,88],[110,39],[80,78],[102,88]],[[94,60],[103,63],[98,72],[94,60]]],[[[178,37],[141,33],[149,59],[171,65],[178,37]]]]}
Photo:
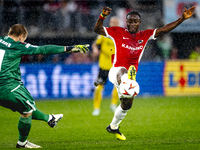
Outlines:
{"type": "Polygon", "coordinates": [[[113,117],[113,120],[110,124],[111,129],[118,129],[118,126],[120,124],[120,122],[124,119],[124,117],[126,116],[128,110],[123,110],[121,108],[121,105],[119,105],[117,107],[117,109],[115,110],[115,114],[113,117]]]}

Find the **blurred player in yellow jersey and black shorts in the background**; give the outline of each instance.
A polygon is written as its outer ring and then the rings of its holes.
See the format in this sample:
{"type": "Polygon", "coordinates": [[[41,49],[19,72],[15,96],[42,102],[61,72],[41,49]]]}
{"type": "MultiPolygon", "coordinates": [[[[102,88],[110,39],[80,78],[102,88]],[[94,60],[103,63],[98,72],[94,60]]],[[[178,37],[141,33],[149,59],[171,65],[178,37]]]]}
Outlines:
{"type": "MultiPolygon", "coordinates": [[[[119,19],[116,16],[110,18],[109,26],[119,26],[119,19]]],[[[111,39],[99,35],[97,39],[92,44],[92,50],[95,56],[99,56],[99,75],[97,81],[94,83],[96,88],[94,91],[93,105],[94,111],[93,116],[98,116],[100,114],[100,105],[102,101],[102,92],[104,88],[104,83],[107,81],[108,72],[112,67],[111,56],[115,53],[115,46],[111,39]],[[100,46],[100,49],[98,48],[100,46]]],[[[118,93],[117,89],[114,87],[112,91],[112,100],[110,104],[110,109],[114,112],[117,108],[118,103],[118,93]]]]}

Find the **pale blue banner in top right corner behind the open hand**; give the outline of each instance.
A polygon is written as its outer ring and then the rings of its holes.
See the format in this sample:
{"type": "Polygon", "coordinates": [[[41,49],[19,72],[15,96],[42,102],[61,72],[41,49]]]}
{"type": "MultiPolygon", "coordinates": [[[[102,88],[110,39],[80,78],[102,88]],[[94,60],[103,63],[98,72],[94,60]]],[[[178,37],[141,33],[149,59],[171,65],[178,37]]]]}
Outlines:
{"type": "Polygon", "coordinates": [[[196,6],[195,14],[185,20],[171,32],[199,32],[200,31],[200,0],[164,0],[164,21],[171,23],[182,16],[184,8],[196,6]]]}

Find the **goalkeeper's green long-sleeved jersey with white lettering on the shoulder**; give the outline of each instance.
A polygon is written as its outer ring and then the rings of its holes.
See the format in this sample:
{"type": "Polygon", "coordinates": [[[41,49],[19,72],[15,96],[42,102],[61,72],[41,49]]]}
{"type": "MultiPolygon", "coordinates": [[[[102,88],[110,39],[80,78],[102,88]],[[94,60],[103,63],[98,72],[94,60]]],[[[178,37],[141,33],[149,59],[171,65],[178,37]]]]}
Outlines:
{"type": "Polygon", "coordinates": [[[11,89],[21,83],[19,64],[23,55],[57,54],[64,51],[64,46],[34,46],[16,42],[9,36],[0,37],[0,90],[11,89]]]}

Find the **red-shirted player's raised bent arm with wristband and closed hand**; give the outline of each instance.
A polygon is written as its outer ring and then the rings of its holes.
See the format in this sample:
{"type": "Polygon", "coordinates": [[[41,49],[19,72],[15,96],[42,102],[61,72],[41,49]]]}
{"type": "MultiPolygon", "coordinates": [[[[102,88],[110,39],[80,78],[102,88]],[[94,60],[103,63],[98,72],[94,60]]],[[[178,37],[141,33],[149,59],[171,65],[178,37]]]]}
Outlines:
{"type": "Polygon", "coordinates": [[[102,12],[94,26],[94,32],[96,32],[97,34],[101,34],[101,35],[106,35],[104,29],[103,29],[103,20],[106,18],[107,15],[110,14],[110,11],[112,9],[109,7],[104,6],[102,9],[102,12]]]}

